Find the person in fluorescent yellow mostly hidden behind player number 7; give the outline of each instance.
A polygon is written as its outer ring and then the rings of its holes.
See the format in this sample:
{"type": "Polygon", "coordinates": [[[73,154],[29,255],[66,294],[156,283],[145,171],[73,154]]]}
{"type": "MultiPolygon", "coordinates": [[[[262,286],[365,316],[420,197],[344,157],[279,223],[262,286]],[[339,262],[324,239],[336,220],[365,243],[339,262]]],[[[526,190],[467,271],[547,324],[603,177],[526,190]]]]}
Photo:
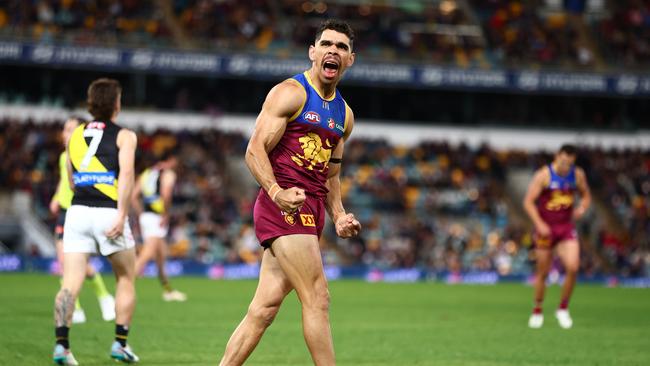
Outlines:
{"type": "MultiPolygon", "coordinates": [[[[86,121],[81,118],[70,118],[63,124],[63,131],[61,133],[64,146],[68,145],[72,131],[80,123],[86,121]]],[[[68,177],[68,168],[66,165],[67,152],[63,151],[59,156],[59,183],[56,192],[50,201],[50,212],[57,217],[54,235],[56,237],[56,256],[59,263],[59,271],[63,274],[63,226],[65,224],[65,213],[70,207],[72,196],[74,192],[70,188],[70,180],[68,177]]],[[[95,268],[89,263],[86,267],[86,279],[90,281],[97,295],[99,307],[102,311],[102,318],[105,321],[115,319],[115,299],[106,290],[104,280],[95,268]]],[[[79,298],[75,301],[75,310],[72,314],[73,323],[83,323],[86,321],[86,314],[79,303],[79,298]]]]}

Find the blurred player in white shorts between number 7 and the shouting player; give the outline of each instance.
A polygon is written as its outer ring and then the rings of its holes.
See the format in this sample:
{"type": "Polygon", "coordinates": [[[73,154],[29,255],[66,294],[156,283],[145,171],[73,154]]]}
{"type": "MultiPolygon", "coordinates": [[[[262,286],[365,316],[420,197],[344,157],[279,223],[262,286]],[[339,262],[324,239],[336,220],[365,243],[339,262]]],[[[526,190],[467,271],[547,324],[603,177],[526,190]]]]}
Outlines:
{"type": "Polygon", "coordinates": [[[187,295],[171,287],[165,272],[167,259],[165,239],[169,231],[169,210],[176,184],[177,163],[176,155],[172,151],[167,151],[158,163],[140,174],[133,189],[133,207],[138,213],[140,232],[144,240],[135,264],[135,273],[141,274],[147,263],[155,259],[165,301],[187,300],[187,295]]]}

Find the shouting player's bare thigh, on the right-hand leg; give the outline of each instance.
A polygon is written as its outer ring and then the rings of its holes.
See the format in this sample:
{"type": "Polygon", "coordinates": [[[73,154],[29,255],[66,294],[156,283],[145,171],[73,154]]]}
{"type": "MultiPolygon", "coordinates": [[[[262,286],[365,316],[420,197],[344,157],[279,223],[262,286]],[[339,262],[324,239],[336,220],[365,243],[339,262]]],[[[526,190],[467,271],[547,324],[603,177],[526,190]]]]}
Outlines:
{"type": "Polygon", "coordinates": [[[272,250],[291,285],[304,303],[313,299],[305,296],[327,292],[327,279],[323,271],[318,237],[295,234],[277,238],[272,250]]]}

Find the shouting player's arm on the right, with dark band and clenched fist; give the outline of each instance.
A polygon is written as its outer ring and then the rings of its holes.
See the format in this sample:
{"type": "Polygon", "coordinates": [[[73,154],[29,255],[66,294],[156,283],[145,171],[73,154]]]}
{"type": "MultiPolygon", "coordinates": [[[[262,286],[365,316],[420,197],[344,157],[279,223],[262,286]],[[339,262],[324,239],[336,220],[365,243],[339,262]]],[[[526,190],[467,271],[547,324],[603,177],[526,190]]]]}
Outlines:
{"type": "Polygon", "coordinates": [[[352,110],[347,107],[349,113],[349,120],[346,125],[345,134],[339,141],[332,153],[329,162],[329,171],[327,176],[327,199],[325,201],[325,208],[330,215],[332,222],[336,227],[336,234],[342,238],[350,238],[356,236],[361,231],[361,224],[351,213],[346,213],[341,200],[341,163],[343,160],[343,151],[345,149],[345,141],[350,137],[352,128],[354,126],[354,115],[352,110]]]}

